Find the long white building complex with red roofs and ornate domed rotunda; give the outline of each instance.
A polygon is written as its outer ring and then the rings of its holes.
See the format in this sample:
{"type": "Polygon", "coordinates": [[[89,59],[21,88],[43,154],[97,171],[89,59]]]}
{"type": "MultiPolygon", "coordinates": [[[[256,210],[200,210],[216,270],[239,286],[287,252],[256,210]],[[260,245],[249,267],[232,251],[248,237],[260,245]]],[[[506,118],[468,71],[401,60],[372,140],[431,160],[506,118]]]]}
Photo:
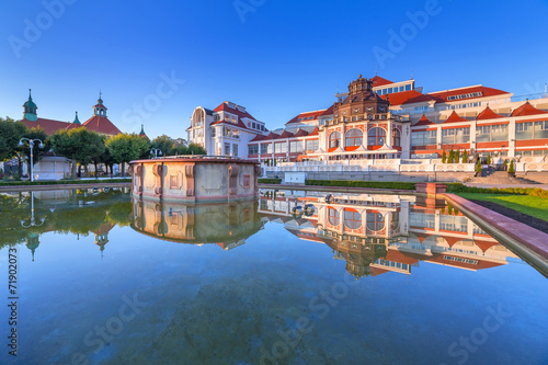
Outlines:
{"type": "MultiPolygon", "coordinates": [[[[190,133],[189,140],[204,144],[215,155],[227,155],[232,152],[228,146],[232,141],[220,142],[225,135],[212,137],[217,132],[210,126],[215,121],[233,125],[235,121],[231,116],[216,119],[217,110],[196,109],[190,128],[196,126],[196,133],[190,133]]],[[[249,128],[244,123],[243,127],[240,133],[249,128]]],[[[349,83],[347,92],[335,94],[331,106],[300,113],[282,129],[247,132],[237,142],[240,157],[278,168],[298,169],[309,161],[366,166],[414,159],[413,163],[432,164],[441,161],[444,151],[466,150],[470,159],[463,163],[490,155],[501,163],[514,159],[548,171],[548,94],[515,96],[481,84],[423,93],[413,79],[392,82],[359,76],[349,83]]]]}

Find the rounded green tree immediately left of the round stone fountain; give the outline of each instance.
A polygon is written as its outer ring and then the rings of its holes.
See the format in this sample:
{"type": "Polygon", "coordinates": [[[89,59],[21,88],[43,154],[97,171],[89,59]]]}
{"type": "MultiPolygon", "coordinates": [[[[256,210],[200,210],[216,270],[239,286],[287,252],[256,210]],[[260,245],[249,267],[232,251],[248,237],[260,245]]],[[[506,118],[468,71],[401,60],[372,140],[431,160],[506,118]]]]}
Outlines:
{"type": "Polygon", "coordinates": [[[115,162],[122,164],[122,175],[125,173],[125,163],[144,158],[150,152],[150,144],[137,134],[121,133],[109,138],[106,146],[115,162]]]}

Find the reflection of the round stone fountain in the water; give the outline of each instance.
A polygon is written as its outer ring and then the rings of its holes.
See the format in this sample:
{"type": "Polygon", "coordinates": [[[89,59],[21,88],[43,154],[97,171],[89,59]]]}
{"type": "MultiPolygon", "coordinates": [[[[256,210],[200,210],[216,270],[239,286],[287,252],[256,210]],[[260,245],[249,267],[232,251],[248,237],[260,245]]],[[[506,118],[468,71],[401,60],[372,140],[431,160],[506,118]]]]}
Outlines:
{"type": "Polygon", "coordinates": [[[230,250],[246,243],[262,223],[256,201],[206,204],[134,198],[132,228],[171,242],[216,243],[230,250]]]}

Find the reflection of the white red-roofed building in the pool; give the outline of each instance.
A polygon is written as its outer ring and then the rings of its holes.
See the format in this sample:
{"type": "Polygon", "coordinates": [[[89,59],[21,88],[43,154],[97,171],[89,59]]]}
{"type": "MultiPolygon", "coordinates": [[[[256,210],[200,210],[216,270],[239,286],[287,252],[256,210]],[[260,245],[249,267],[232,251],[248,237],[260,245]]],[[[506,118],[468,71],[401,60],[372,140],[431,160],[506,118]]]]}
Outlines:
{"type": "Polygon", "coordinates": [[[478,271],[516,258],[444,201],[261,191],[259,212],[300,239],[329,246],[356,278],[411,274],[421,261],[478,271]]]}

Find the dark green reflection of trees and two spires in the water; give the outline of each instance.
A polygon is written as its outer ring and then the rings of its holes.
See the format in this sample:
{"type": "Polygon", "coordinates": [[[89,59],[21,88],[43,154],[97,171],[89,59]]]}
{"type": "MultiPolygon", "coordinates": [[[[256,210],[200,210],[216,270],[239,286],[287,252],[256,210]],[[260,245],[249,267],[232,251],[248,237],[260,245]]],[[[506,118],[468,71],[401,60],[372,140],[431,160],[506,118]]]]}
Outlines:
{"type": "Polygon", "coordinates": [[[32,260],[46,232],[95,236],[101,254],[115,226],[128,226],[132,206],[125,189],[87,189],[0,194],[0,249],[24,242],[32,260]]]}

